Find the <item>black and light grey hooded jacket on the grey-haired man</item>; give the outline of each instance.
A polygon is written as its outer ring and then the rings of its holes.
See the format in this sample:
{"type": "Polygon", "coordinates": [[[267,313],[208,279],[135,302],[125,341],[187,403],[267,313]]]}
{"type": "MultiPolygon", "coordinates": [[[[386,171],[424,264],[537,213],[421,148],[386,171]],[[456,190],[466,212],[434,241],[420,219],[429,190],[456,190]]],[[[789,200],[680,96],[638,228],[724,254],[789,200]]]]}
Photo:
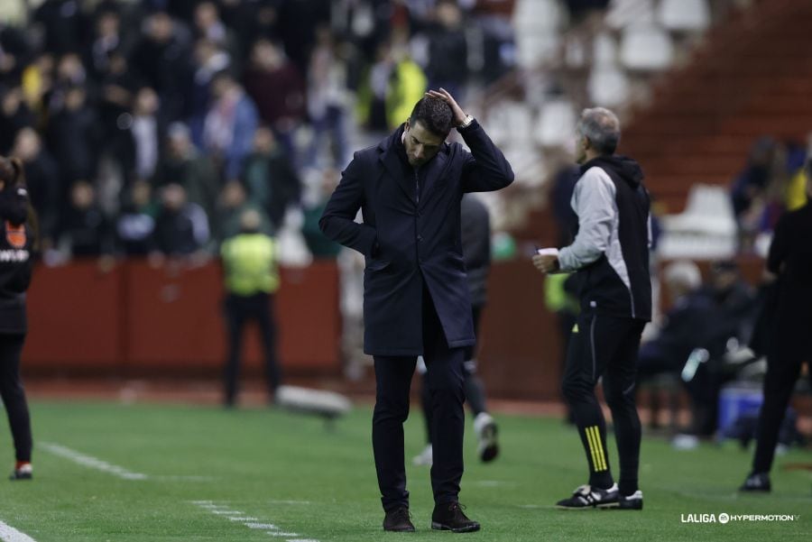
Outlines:
{"type": "Polygon", "coordinates": [[[581,166],[572,198],[575,241],[562,271],[577,271],[581,310],[651,319],[649,193],[636,161],[601,156],[581,166]]]}

